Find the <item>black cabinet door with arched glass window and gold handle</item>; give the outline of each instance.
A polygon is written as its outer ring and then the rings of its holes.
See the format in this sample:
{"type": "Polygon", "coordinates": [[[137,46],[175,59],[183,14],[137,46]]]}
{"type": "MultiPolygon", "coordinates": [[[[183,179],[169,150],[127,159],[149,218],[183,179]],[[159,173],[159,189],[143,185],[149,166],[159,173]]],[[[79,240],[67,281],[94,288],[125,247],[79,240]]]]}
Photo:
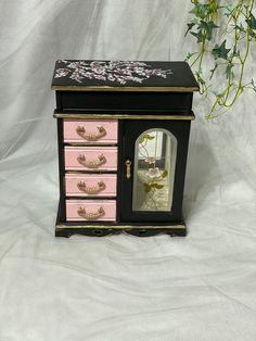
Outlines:
{"type": "Polygon", "coordinates": [[[180,220],[190,122],[124,122],[123,222],[180,220]]]}

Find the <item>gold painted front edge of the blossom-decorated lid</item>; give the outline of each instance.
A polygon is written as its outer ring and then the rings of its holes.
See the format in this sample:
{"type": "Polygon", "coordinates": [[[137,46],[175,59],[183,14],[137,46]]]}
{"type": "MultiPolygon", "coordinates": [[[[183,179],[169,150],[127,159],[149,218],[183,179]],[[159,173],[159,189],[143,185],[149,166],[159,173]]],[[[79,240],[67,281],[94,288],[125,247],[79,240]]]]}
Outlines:
{"type": "Polygon", "coordinates": [[[129,91],[129,92],[194,92],[199,87],[82,87],[82,86],[52,86],[57,91],[129,91]]]}

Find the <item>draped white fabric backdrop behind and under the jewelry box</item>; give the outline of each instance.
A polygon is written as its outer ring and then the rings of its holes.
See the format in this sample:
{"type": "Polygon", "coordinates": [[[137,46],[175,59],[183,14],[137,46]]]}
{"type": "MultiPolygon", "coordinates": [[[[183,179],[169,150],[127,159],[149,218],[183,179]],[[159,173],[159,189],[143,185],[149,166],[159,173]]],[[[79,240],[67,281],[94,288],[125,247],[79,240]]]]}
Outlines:
{"type": "MultiPolygon", "coordinates": [[[[54,238],[54,61],[183,60],[190,8],[1,0],[1,341],[256,340],[254,94],[212,123],[195,96],[187,238],[54,238]]],[[[251,79],[255,50],[249,58],[251,79]]]]}

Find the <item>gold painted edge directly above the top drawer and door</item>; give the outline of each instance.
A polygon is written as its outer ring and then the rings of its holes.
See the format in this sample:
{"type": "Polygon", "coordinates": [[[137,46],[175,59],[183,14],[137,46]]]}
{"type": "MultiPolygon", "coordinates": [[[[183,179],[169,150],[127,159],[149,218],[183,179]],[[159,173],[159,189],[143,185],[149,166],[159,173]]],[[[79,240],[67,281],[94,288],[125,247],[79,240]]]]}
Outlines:
{"type": "Polygon", "coordinates": [[[53,113],[54,118],[84,118],[84,119],[169,119],[169,121],[194,121],[194,115],[128,115],[128,114],[64,114],[53,113]]]}

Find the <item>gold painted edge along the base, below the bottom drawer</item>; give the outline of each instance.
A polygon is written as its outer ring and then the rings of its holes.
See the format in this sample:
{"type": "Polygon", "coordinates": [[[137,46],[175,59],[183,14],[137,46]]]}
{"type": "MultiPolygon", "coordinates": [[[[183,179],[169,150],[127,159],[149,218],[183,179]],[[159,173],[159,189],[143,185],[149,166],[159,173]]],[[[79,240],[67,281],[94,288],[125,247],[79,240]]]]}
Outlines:
{"type": "Polygon", "coordinates": [[[56,230],[61,229],[66,229],[66,228],[119,228],[119,229],[145,229],[145,228],[158,228],[158,229],[164,229],[164,228],[176,228],[176,229],[185,229],[185,225],[168,225],[168,226],[153,226],[153,225],[148,225],[148,226],[135,226],[135,225],[76,225],[76,226],[68,226],[68,225],[55,225],[56,230]]]}

